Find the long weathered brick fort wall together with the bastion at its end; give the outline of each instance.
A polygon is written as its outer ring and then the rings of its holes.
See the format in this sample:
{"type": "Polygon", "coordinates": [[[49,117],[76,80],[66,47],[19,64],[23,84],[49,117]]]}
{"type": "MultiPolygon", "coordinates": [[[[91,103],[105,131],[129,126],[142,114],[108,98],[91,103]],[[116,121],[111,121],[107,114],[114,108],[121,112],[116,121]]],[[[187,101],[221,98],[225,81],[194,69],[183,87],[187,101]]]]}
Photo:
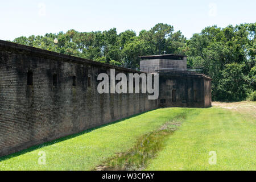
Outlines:
{"type": "MultiPolygon", "coordinates": [[[[166,68],[170,64],[176,65],[159,60],[166,68]]],[[[156,71],[158,100],[148,100],[148,94],[99,94],[97,76],[110,75],[112,68],[115,74],[142,73],[0,40],[0,156],[159,106],[210,105],[210,78],[185,71],[156,71]],[[187,94],[195,89],[197,102],[187,94]]]]}

